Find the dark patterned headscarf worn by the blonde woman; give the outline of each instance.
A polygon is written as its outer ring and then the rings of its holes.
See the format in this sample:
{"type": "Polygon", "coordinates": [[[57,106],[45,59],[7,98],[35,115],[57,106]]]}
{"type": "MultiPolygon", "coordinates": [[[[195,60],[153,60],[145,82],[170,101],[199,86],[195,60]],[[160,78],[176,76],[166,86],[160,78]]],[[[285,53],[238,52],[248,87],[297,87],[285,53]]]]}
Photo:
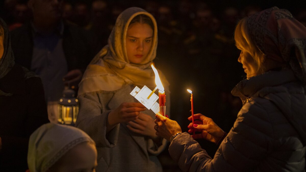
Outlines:
{"type": "Polygon", "coordinates": [[[266,58],[290,65],[306,83],[306,28],[286,9],[273,7],[247,18],[248,32],[266,58]]]}

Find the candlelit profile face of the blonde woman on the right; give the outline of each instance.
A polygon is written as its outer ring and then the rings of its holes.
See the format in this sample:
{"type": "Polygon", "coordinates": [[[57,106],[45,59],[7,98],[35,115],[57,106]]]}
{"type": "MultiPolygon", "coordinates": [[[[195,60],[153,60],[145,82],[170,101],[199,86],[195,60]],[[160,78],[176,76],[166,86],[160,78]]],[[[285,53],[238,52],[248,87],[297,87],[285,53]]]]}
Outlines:
{"type": "Polygon", "coordinates": [[[247,78],[258,75],[258,65],[248,52],[241,50],[238,62],[242,63],[242,67],[244,72],[247,74],[247,78]]]}

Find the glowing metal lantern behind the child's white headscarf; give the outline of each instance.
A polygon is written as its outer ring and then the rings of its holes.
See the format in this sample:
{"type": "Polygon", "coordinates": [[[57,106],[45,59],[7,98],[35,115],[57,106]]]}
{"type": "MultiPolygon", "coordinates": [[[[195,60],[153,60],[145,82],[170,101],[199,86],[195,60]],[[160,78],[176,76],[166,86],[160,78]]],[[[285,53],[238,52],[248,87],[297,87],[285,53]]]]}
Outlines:
{"type": "Polygon", "coordinates": [[[61,124],[74,125],[79,113],[78,99],[74,97],[75,92],[71,89],[63,91],[63,97],[58,102],[58,122],[61,124]]]}

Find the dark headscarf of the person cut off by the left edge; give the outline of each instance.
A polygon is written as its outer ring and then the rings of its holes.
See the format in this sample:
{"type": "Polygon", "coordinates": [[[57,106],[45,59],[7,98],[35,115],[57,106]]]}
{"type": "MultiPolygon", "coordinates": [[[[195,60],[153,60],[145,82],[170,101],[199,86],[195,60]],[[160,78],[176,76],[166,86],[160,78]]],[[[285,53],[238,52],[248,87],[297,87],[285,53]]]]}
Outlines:
{"type": "MultiPolygon", "coordinates": [[[[6,76],[7,73],[13,68],[15,65],[14,62],[14,54],[11,48],[11,40],[9,36],[9,28],[7,27],[6,23],[0,18],[0,34],[3,39],[3,55],[0,60],[0,78],[6,76]]],[[[2,46],[2,45],[1,45],[2,46]]],[[[12,94],[5,93],[0,90],[0,96],[10,96],[12,94]]]]}

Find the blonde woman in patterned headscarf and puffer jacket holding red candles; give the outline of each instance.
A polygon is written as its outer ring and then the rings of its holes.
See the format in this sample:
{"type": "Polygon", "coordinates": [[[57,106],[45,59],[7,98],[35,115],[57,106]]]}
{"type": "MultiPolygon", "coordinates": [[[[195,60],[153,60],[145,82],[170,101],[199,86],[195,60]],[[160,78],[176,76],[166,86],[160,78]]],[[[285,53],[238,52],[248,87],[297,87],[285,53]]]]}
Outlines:
{"type": "Polygon", "coordinates": [[[156,134],[171,141],[169,153],[183,171],[304,171],[305,26],[273,7],[242,19],[235,40],[247,79],[232,91],[243,107],[230,132],[195,114],[199,121],[189,124],[189,132],[201,133],[192,138],[157,114],[156,134]],[[221,144],[211,158],[194,138],[221,144]]]}

